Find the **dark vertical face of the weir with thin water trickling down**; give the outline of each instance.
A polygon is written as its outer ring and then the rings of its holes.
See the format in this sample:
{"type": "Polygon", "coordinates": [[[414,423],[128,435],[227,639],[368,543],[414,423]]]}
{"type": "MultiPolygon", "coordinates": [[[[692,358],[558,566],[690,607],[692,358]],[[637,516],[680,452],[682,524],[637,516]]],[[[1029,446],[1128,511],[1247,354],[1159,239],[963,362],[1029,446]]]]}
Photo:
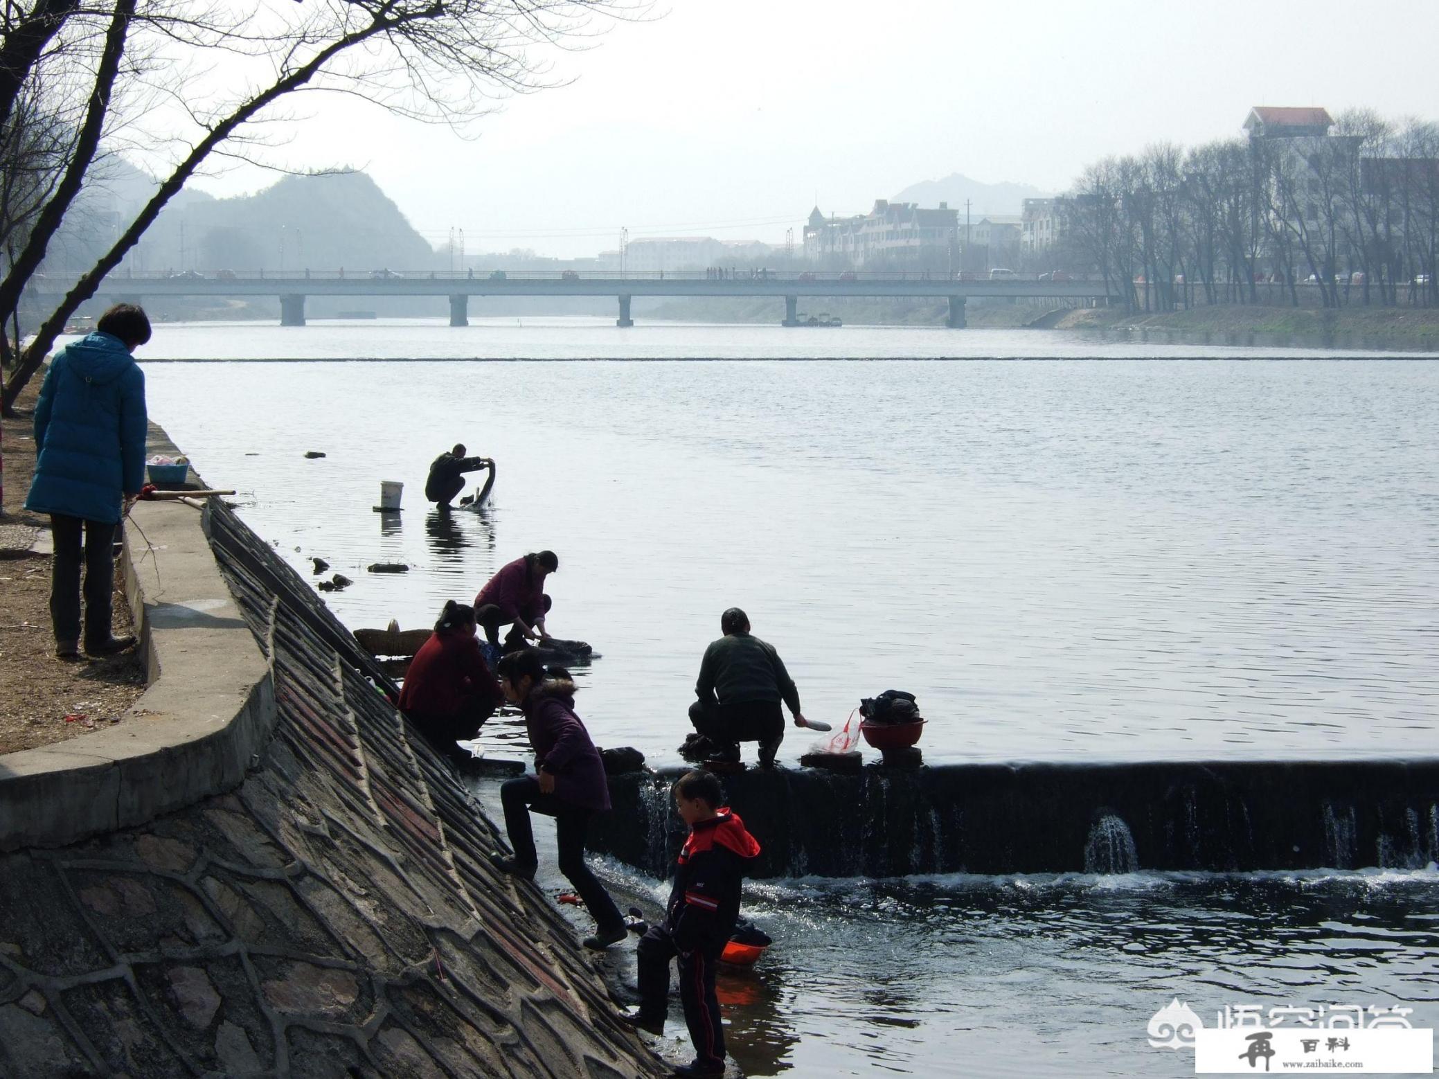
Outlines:
{"type": "MultiPolygon", "coordinates": [[[[591,844],[662,876],[678,768],[610,777],[591,844]]],[[[750,770],[722,780],[757,876],[1417,869],[1439,860],[1439,761],[750,770]]]]}

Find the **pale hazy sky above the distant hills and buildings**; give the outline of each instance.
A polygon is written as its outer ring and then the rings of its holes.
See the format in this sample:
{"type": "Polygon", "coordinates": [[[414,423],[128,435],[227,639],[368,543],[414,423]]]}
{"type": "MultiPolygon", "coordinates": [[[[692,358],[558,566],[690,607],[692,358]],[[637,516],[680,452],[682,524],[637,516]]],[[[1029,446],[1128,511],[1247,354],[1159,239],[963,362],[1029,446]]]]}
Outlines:
{"type": "MultiPolygon", "coordinates": [[[[1063,190],[1088,161],[1236,134],[1252,105],[1439,119],[1436,0],[671,0],[570,85],[465,141],[358,102],[305,105],[301,167],[366,168],[432,243],[587,255],[620,227],[783,240],[964,173],[1063,190]]],[[[273,177],[233,171],[217,194],[273,177]]]]}

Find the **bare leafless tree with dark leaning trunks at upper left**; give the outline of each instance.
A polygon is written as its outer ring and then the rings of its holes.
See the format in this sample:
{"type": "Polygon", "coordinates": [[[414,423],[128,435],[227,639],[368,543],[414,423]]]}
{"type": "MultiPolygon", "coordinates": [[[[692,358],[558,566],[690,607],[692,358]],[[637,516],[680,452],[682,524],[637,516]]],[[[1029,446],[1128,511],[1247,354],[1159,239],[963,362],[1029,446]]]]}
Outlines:
{"type": "MultiPolygon", "coordinates": [[[[194,138],[171,147],[173,167],[154,196],[43,319],[4,386],[0,403],[6,409],[39,370],[65,322],[95,295],[165,203],[212,155],[253,154],[256,138],[263,140],[256,125],[282,118],[279,109],[292,95],[355,95],[404,117],[459,127],[498,96],[550,85],[543,63],[531,56],[534,46],[581,40],[594,14],[633,17],[643,12],[642,3],[630,0],[302,0],[206,20],[190,17],[193,9],[183,0],[145,0],[178,4],[150,10],[138,1],[114,0],[105,9],[104,47],[72,165],[0,283],[0,318],[14,309],[24,282],[40,265],[78,191],[73,181],[83,183],[117,95],[131,89],[167,94],[171,106],[189,115],[194,138]],[[131,43],[132,37],[138,40],[131,43]],[[153,72],[137,73],[131,88],[121,63],[127,45],[131,52],[137,46],[160,50],[170,70],[186,75],[161,83],[153,72]],[[245,78],[236,79],[239,89],[196,95],[190,73],[213,66],[222,55],[248,62],[245,78]]],[[[81,9],[69,16],[78,17],[81,9]]],[[[63,30],[62,24],[47,40],[63,30]]]]}

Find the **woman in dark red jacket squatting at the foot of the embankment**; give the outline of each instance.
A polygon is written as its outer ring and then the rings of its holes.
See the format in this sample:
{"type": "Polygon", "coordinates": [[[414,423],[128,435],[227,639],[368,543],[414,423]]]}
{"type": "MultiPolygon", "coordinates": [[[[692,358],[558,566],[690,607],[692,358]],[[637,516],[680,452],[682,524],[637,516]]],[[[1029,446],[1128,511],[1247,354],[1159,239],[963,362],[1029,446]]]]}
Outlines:
{"type": "Polygon", "coordinates": [[[436,750],[463,758],[469,754],[455,742],[479,734],[502,699],[475,637],[475,609],[449,600],[430,639],[410,660],[400,711],[436,750]]]}

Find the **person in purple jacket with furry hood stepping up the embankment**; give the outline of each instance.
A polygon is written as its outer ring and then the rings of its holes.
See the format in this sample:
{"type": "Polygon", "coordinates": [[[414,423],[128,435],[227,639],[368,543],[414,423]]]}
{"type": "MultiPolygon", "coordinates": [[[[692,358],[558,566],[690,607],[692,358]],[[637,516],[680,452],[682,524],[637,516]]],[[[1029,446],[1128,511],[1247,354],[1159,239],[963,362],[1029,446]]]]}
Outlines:
{"type": "Polygon", "coordinates": [[[596,921],[586,948],[600,951],[625,939],[625,918],[610,893],[584,865],[584,832],[590,816],[610,807],[604,762],[589,731],[574,714],[574,682],[564,668],[544,663],[534,652],[511,652],[499,660],[499,686],[511,704],[525,712],[525,731],[535,751],[535,774],[507,780],[499,787],[505,807],[505,830],[514,857],[491,855],[495,868],[534,880],[540,857],[535,853],[530,810],[554,817],[560,846],[560,872],[596,921]]]}

